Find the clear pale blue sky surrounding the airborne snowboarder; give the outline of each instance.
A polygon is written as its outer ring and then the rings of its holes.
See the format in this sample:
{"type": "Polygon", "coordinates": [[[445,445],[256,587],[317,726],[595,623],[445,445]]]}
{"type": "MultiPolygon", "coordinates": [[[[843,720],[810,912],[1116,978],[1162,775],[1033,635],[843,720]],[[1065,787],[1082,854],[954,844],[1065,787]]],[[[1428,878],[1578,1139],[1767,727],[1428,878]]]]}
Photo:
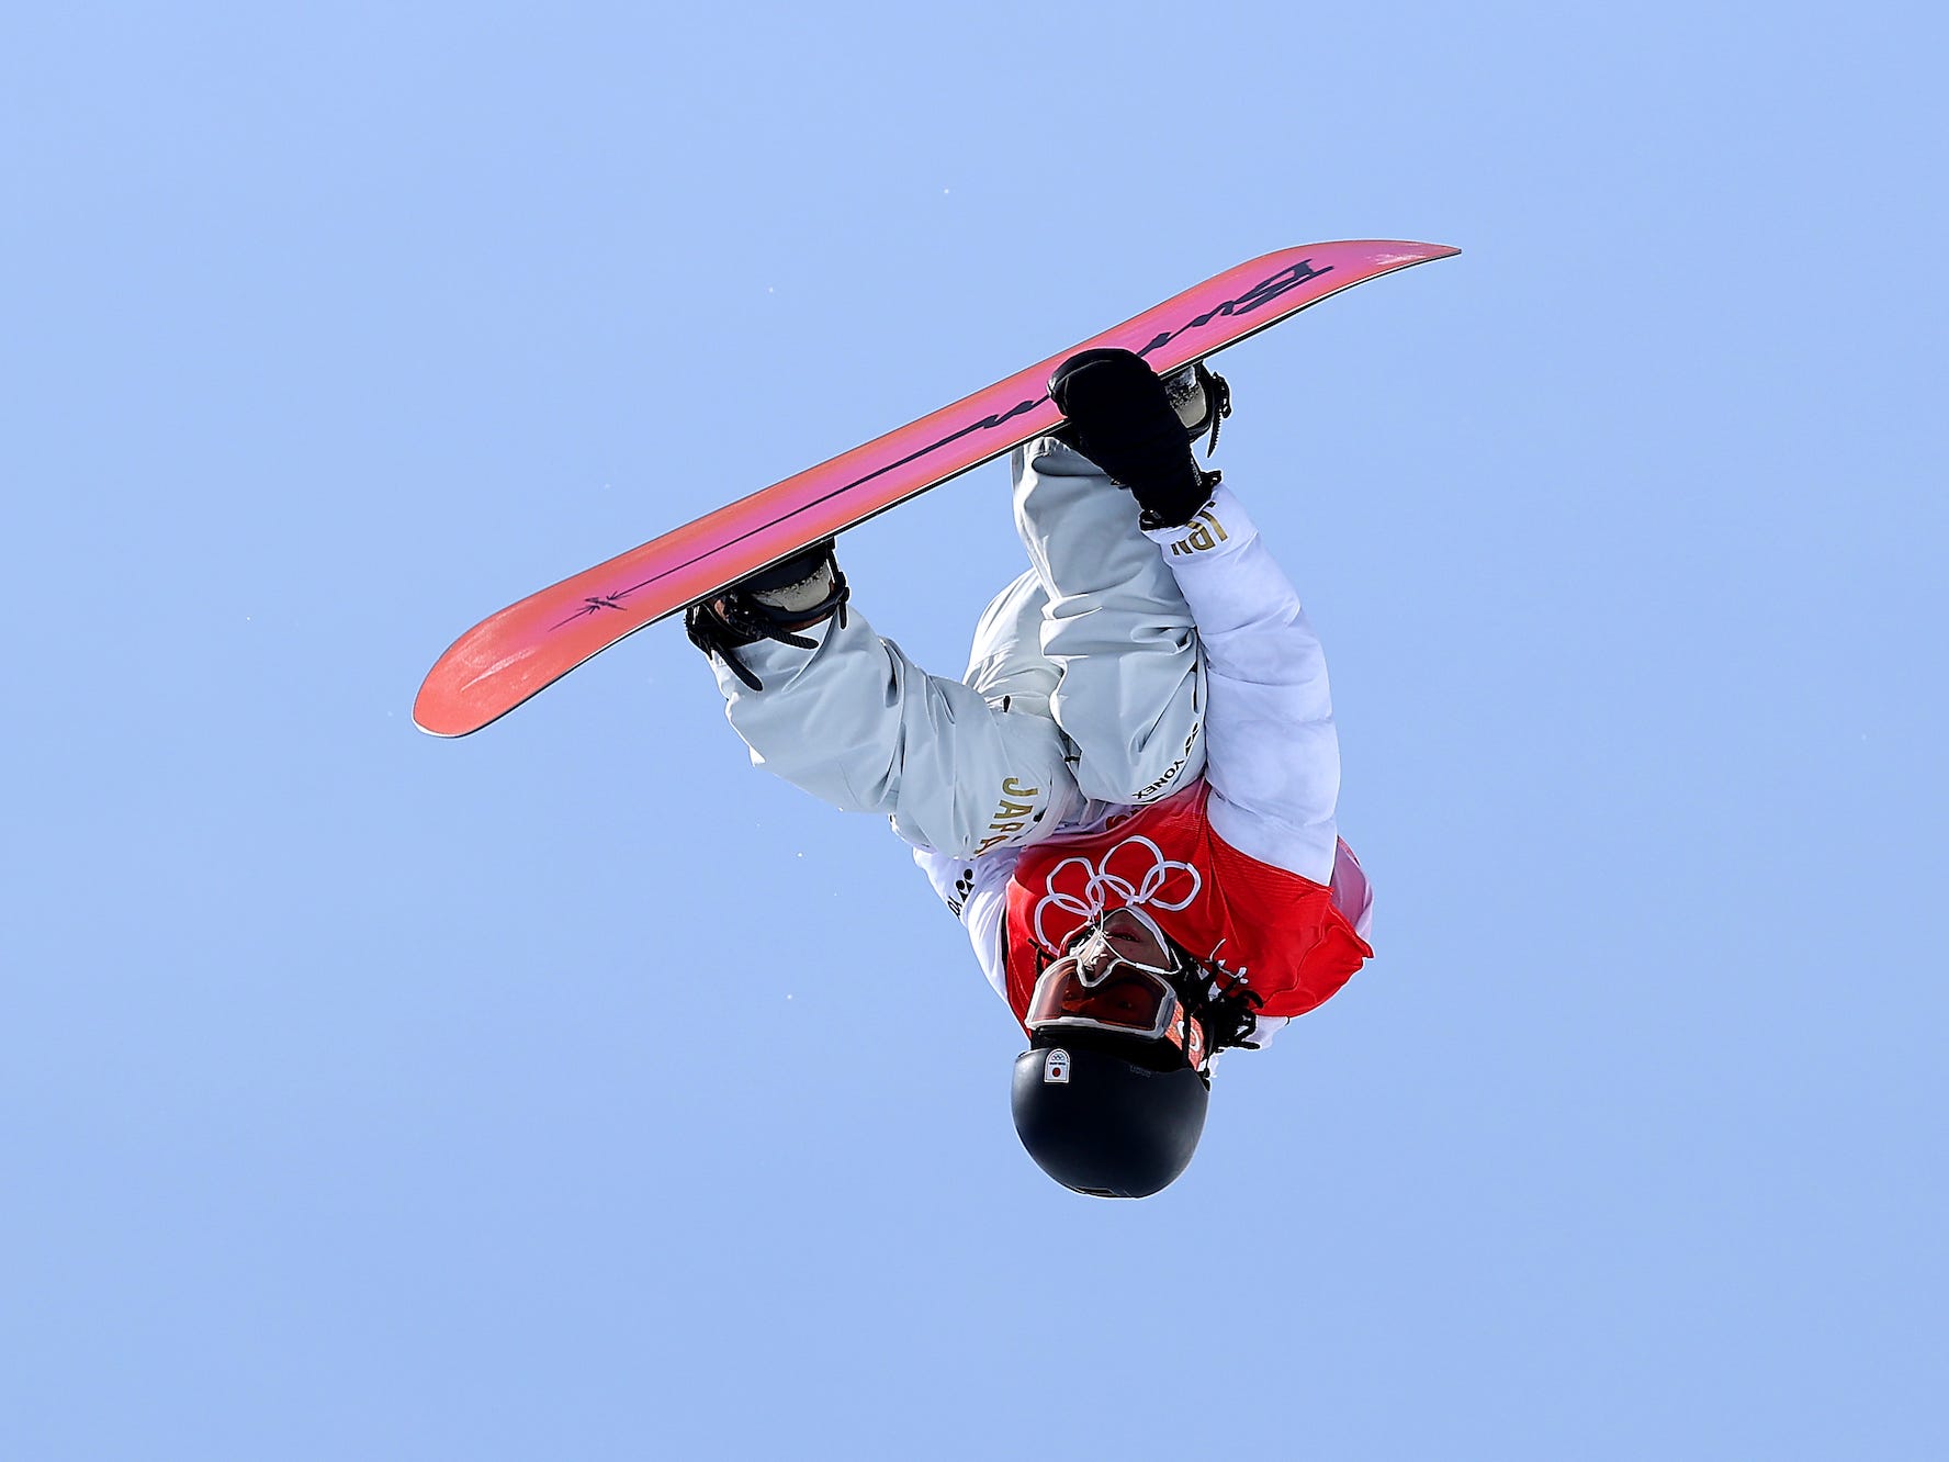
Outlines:
{"type": "MultiPolygon", "coordinates": [[[[1949,1450],[1933,8],[18,10],[0,1454],[1949,1450]],[[1466,250],[1220,357],[1380,957],[1166,1195],[674,624],[413,729],[1331,238],[1466,250]]],[[[840,544],[941,673],[1006,491],[840,544]]]]}

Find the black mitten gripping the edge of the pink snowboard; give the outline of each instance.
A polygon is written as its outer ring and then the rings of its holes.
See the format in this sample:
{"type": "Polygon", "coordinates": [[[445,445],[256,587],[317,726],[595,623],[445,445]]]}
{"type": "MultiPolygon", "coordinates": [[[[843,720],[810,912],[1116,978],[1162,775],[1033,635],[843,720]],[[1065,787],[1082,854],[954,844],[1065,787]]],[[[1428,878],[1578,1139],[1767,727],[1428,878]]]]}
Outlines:
{"type": "Polygon", "coordinates": [[[1210,501],[1216,472],[1199,468],[1158,372],[1132,351],[1082,351],[1056,366],[1049,396],[1076,450],[1144,509],[1146,528],[1181,528],[1210,501]]]}

